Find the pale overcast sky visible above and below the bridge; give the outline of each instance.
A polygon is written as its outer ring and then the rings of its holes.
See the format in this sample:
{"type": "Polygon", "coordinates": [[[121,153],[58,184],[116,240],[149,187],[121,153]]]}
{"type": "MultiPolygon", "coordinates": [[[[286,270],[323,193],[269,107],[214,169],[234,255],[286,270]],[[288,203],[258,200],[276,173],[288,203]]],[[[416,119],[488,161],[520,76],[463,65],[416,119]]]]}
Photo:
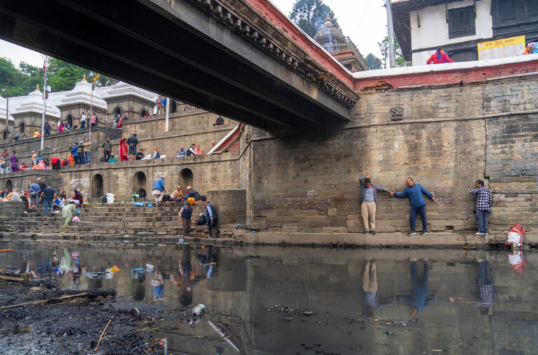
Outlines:
{"type": "MultiPolygon", "coordinates": [[[[270,0],[289,15],[294,0],[270,0]]],[[[362,55],[373,53],[380,57],[378,42],[387,34],[387,12],[383,0],[324,0],[333,10],[344,36],[350,36],[362,55]]],[[[43,66],[43,58],[34,52],[0,40],[0,57],[11,59],[15,66],[27,62],[36,67],[43,66]]]]}

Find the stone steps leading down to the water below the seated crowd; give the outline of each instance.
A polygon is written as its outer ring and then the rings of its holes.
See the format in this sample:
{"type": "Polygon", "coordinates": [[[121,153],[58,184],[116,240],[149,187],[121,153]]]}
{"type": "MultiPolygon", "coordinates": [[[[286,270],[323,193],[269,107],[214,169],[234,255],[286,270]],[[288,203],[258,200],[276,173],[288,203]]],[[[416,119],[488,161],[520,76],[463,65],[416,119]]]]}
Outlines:
{"type": "MultiPolygon", "coordinates": [[[[46,217],[42,205],[30,209],[20,218],[0,223],[0,233],[24,233],[34,235],[54,235],[72,237],[177,237],[182,233],[181,221],[177,214],[181,204],[164,204],[162,207],[136,207],[133,204],[84,204],[80,209],[81,222],[71,222],[64,228],[61,213],[46,217]]],[[[202,207],[196,207],[202,211],[202,207]]],[[[198,214],[200,214],[198,211],[198,214]]],[[[198,214],[193,214],[198,216],[198,214]]],[[[195,221],[193,221],[195,228],[195,221]]],[[[205,227],[198,227],[199,235],[205,227]]]]}

